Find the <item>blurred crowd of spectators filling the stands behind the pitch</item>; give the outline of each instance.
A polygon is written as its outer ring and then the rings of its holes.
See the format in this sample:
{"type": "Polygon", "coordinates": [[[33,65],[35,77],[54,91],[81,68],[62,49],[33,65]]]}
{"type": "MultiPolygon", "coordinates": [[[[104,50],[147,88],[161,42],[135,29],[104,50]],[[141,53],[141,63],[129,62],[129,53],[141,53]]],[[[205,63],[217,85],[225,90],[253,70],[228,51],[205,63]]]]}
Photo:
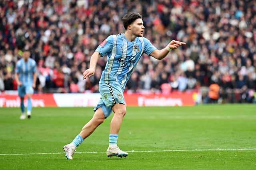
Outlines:
{"type": "Polygon", "coordinates": [[[161,61],[143,55],[128,92],[199,91],[218,84],[229,102],[244,102],[243,93],[253,98],[256,0],[1,0],[0,90],[17,89],[19,50],[29,48],[37,63],[37,93],[98,92],[106,57],[90,79],[82,74],[96,47],[125,31],[127,12],[142,14],[144,37],[158,49],[172,39],[186,42],[161,61]]]}

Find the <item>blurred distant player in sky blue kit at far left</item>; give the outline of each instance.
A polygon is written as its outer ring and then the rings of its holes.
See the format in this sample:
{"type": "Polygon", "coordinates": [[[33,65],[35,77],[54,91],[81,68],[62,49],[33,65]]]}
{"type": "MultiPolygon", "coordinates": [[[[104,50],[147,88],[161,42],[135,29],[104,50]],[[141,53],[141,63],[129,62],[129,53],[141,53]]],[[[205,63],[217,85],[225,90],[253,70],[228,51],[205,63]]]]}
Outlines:
{"type": "Polygon", "coordinates": [[[28,97],[27,116],[28,118],[31,117],[31,96],[34,93],[34,88],[36,87],[36,62],[29,57],[30,51],[24,51],[22,54],[22,59],[20,59],[16,63],[15,68],[15,80],[18,84],[18,94],[20,96],[20,109],[22,112],[20,119],[26,118],[24,106],[25,95],[27,95],[28,97]]]}

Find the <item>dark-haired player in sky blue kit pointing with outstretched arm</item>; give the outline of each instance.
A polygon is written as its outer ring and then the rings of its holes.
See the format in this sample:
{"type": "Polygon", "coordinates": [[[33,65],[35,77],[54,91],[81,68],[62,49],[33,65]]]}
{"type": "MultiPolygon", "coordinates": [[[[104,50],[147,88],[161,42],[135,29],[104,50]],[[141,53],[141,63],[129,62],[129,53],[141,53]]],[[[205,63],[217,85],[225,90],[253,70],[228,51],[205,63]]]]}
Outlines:
{"type": "Polygon", "coordinates": [[[75,137],[72,143],[63,147],[67,159],[73,159],[73,154],[84,139],[103,123],[112,111],[114,116],[110,123],[109,147],[107,156],[126,157],[127,152],[117,146],[118,133],[122,120],[126,114],[124,89],[132,72],[134,71],[143,53],[156,59],[163,59],[171,49],[176,49],[184,42],[172,40],[166,48],[156,49],[148,39],[143,37],[144,26],[142,16],[132,12],[126,14],[122,21],[125,33],[110,35],[93,53],[90,59],[90,68],[84,71],[84,79],[94,74],[99,57],[108,57],[106,67],[102,72],[99,82],[100,101],[94,108],[94,116],[84,125],[82,131],[75,137]]]}

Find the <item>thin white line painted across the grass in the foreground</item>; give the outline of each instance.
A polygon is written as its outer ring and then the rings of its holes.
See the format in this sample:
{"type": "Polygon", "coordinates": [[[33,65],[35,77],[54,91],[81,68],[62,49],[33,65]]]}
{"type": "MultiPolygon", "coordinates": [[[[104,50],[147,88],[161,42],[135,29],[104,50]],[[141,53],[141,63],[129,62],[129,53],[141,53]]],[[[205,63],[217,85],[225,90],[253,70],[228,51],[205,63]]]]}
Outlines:
{"type": "MultiPolygon", "coordinates": [[[[238,149],[182,149],[182,150],[140,150],[140,151],[128,151],[128,152],[184,152],[184,151],[223,151],[223,150],[256,150],[256,148],[238,148],[238,149]]],[[[76,152],[78,153],[105,153],[105,152],[76,152]]],[[[2,155],[35,155],[35,154],[65,154],[65,152],[56,152],[56,153],[5,153],[2,155]]]]}

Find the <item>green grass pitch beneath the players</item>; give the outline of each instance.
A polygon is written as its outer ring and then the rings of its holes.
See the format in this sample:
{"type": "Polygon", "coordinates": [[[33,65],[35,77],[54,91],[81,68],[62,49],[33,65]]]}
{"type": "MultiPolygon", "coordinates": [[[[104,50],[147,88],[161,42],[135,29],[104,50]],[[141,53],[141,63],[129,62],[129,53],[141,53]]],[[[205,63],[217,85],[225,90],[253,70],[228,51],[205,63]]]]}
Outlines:
{"type": "Polygon", "coordinates": [[[92,107],[0,108],[0,169],[250,170],[256,169],[256,105],[127,107],[118,145],[126,158],[106,156],[112,115],[66,160],[92,107]]]}

